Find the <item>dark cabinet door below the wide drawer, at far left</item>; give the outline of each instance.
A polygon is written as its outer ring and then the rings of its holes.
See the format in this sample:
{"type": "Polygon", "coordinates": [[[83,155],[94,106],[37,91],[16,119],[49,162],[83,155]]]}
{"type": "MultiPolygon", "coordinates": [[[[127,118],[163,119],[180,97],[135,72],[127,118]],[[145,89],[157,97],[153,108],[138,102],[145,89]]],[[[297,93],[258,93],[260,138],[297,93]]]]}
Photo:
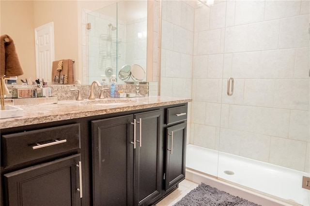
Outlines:
{"type": "Polygon", "coordinates": [[[7,206],[80,206],[79,161],[76,154],[5,174],[7,206]]]}

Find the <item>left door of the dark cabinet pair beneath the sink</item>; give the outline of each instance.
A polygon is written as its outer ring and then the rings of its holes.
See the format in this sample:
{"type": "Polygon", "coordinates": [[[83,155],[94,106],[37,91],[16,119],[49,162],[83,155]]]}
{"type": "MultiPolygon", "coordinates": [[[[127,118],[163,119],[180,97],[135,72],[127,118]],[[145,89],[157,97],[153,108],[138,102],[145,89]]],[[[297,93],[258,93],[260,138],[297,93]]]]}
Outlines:
{"type": "Polygon", "coordinates": [[[92,121],[93,205],[133,205],[133,115],[92,121]]]}

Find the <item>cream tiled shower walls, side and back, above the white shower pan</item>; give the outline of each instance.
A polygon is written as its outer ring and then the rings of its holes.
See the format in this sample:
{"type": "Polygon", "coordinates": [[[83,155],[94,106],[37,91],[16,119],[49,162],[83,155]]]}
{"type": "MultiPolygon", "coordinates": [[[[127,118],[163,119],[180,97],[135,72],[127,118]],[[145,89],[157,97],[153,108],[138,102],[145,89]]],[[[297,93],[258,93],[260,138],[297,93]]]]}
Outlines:
{"type": "Polygon", "coordinates": [[[161,94],[191,95],[192,144],[310,172],[309,2],[196,7],[191,40],[182,28],[187,2],[166,1],[161,94]],[[186,55],[192,64],[182,68],[186,55]]]}

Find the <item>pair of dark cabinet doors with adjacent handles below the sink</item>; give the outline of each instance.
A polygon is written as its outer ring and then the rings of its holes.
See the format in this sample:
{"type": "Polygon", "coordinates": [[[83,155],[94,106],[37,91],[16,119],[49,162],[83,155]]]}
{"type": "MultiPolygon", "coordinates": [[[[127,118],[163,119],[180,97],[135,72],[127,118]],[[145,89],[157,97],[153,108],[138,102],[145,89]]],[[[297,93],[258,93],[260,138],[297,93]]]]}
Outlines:
{"type": "Polygon", "coordinates": [[[162,110],[92,121],[93,203],[150,205],[162,189],[162,110]]]}

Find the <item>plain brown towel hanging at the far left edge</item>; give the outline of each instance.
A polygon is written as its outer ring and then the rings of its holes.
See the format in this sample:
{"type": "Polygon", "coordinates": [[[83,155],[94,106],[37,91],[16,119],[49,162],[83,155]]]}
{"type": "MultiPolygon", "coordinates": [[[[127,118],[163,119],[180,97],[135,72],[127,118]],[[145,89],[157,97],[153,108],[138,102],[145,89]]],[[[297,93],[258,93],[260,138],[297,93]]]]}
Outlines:
{"type": "Polygon", "coordinates": [[[20,76],[24,74],[21,68],[13,39],[4,34],[0,36],[0,76],[20,76]],[[5,42],[9,38],[9,42],[5,42]]]}

